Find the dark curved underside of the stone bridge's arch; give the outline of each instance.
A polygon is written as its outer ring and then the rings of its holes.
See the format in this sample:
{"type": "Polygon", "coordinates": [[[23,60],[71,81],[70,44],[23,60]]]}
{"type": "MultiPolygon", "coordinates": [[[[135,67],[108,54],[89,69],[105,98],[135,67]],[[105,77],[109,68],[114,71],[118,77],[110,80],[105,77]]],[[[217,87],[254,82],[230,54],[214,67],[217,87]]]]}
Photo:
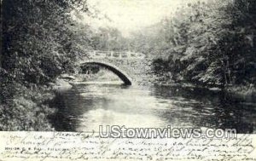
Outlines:
{"type": "Polygon", "coordinates": [[[104,62],[98,62],[98,61],[88,61],[88,62],[84,62],[81,63],[80,66],[88,66],[88,65],[96,65],[96,66],[102,66],[106,69],[108,69],[109,71],[113,72],[115,75],[117,75],[124,83],[125,85],[131,85],[131,78],[128,78],[127,74],[125,74],[125,72],[122,72],[118,67],[113,66],[111,64],[107,64],[104,62]]]}

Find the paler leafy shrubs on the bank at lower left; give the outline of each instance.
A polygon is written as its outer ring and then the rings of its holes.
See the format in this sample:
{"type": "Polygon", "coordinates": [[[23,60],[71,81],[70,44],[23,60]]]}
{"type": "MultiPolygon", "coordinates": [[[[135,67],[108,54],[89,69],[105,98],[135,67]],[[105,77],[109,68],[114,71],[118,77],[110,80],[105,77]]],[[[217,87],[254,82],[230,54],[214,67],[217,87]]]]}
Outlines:
{"type": "Polygon", "coordinates": [[[54,130],[48,118],[55,113],[55,109],[48,105],[48,102],[55,97],[51,88],[45,85],[24,86],[15,83],[10,90],[15,90],[15,95],[12,98],[8,97],[7,101],[0,105],[0,130],[54,130]]]}

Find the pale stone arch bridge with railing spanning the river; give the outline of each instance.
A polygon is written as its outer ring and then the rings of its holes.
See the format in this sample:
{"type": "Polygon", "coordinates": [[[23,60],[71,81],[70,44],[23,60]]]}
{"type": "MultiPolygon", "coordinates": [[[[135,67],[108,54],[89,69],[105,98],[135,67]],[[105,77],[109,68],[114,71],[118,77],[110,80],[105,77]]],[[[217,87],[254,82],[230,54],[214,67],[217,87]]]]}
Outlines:
{"type": "Polygon", "coordinates": [[[148,55],[129,51],[86,51],[78,59],[79,66],[102,66],[115,73],[125,84],[142,83],[151,73],[148,55]]]}

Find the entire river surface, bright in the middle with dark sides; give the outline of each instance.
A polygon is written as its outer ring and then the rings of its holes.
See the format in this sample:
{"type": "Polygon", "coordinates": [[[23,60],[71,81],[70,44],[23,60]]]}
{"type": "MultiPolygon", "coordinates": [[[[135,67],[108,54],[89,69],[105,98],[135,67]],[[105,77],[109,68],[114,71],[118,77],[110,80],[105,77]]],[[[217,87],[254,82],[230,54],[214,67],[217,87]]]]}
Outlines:
{"type": "Polygon", "coordinates": [[[256,133],[256,105],[223,92],[180,87],[83,83],[55,98],[59,131],[95,131],[99,125],[126,128],[220,128],[256,133]]]}

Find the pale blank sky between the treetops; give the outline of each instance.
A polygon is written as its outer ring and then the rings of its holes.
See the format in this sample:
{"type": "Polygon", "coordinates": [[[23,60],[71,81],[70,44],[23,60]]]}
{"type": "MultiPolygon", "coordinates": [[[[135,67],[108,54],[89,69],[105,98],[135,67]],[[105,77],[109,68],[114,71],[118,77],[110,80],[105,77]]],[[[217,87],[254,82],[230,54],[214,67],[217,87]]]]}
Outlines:
{"type": "Polygon", "coordinates": [[[84,14],[80,20],[93,27],[113,26],[125,37],[131,32],[143,29],[159,22],[170,15],[177,5],[188,0],[88,0],[89,6],[100,11],[102,17],[107,15],[109,20],[92,19],[84,14]]]}

